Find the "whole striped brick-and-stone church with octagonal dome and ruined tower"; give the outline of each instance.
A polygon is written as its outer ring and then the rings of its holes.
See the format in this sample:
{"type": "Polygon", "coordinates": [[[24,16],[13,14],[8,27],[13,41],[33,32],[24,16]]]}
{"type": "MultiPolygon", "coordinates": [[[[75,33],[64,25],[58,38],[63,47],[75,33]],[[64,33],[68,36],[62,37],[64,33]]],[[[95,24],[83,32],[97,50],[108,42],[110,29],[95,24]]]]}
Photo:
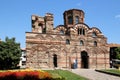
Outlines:
{"type": "Polygon", "coordinates": [[[64,25],[54,28],[53,14],[32,15],[32,32],[26,32],[28,68],[109,68],[107,38],[84,22],[85,13],[63,13],[64,25]]]}

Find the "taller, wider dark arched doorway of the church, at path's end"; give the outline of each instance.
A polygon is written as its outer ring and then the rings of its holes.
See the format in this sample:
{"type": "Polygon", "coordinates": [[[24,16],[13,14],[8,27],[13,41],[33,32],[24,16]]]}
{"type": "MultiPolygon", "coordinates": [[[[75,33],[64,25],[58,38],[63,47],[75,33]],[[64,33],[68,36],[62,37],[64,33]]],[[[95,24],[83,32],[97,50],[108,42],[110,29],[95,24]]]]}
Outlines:
{"type": "Polygon", "coordinates": [[[89,68],[89,56],[86,51],[81,52],[81,68],[89,68]]]}

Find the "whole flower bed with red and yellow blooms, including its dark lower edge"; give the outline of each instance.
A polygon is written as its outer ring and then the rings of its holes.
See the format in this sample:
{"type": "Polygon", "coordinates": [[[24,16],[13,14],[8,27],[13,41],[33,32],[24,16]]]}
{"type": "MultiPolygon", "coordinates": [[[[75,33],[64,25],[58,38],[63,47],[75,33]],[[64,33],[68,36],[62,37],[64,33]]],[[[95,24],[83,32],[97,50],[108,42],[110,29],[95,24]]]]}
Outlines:
{"type": "Polygon", "coordinates": [[[8,70],[0,71],[0,80],[51,80],[51,75],[41,70],[8,70]]]}

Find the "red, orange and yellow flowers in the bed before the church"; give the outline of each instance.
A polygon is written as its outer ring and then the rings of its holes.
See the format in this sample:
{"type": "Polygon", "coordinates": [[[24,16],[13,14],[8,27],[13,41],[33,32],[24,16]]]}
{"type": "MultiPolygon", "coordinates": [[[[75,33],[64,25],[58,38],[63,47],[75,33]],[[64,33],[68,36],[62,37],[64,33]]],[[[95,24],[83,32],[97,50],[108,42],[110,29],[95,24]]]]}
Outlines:
{"type": "Polygon", "coordinates": [[[0,72],[0,79],[6,76],[12,76],[15,78],[25,78],[28,79],[34,78],[36,79],[46,79],[46,78],[51,78],[50,74],[48,72],[43,72],[43,71],[6,71],[6,72],[0,72]]]}

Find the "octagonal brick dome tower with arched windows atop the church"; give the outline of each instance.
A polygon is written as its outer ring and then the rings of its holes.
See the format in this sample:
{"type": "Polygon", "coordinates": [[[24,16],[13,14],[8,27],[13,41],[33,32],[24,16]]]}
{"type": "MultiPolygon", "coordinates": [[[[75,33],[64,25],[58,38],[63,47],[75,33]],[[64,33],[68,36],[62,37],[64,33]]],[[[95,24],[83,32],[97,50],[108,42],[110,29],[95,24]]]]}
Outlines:
{"type": "Polygon", "coordinates": [[[79,9],[70,9],[63,13],[64,25],[67,28],[73,27],[75,24],[84,23],[84,12],[79,9]]]}

